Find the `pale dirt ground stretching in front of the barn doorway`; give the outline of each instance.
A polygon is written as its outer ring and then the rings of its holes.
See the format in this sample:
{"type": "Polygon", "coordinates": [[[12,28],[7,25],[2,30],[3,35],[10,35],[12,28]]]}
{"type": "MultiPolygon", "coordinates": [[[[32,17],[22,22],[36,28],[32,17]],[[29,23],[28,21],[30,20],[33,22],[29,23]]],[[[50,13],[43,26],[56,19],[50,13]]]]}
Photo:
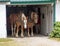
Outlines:
{"type": "Polygon", "coordinates": [[[47,36],[35,36],[24,38],[10,38],[13,41],[1,42],[0,46],[60,46],[60,42],[51,40],[47,36]]]}

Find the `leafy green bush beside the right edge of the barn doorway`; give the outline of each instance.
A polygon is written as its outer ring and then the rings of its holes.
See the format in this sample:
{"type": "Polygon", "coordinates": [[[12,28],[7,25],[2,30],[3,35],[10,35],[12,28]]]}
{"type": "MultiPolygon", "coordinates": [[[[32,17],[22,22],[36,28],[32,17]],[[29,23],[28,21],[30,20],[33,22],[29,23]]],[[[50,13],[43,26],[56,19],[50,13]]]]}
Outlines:
{"type": "Polygon", "coordinates": [[[50,33],[50,37],[60,38],[60,22],[55,22],[54,30],[50,33]]]}

